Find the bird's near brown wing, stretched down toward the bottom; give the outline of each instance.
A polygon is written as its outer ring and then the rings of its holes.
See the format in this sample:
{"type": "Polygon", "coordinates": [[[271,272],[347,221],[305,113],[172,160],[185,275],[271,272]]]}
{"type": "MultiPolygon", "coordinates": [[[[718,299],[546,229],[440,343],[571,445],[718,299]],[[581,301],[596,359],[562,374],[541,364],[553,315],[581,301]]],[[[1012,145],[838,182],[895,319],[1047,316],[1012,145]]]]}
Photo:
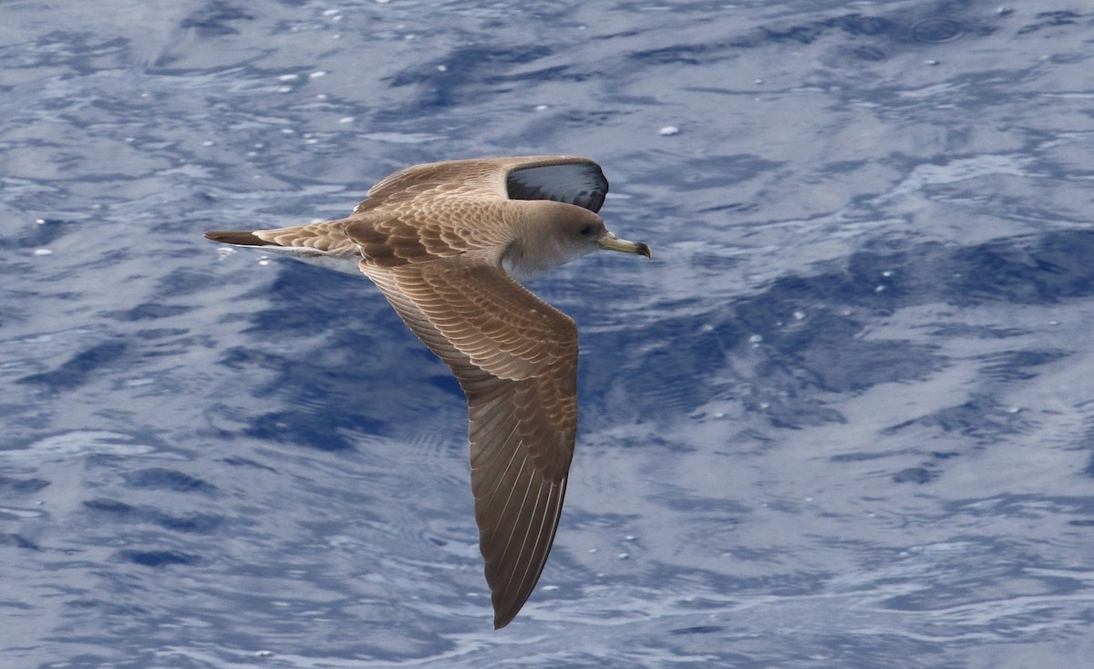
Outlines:
{"type": "Polygon", "coordinates": [[[577,328],[481,258],[361,269],[467,395],[475,519],[502,627],[535,588],[562,512],[577,328]]]}

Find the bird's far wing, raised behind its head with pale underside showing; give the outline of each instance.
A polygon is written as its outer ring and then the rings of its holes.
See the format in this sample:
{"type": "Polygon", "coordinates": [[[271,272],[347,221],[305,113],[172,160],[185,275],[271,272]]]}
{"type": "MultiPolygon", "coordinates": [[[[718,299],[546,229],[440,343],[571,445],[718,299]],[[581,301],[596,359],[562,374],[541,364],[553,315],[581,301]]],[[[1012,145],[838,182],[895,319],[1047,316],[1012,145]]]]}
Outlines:
{"type": "Polygon", "coordinates": [[[354,213],[414,200],[457,197],[556,200],[598,211],[608,181],[595,162],[575,155],[523,155],[426,163],[400,169],[369,190],[354,213]]]}

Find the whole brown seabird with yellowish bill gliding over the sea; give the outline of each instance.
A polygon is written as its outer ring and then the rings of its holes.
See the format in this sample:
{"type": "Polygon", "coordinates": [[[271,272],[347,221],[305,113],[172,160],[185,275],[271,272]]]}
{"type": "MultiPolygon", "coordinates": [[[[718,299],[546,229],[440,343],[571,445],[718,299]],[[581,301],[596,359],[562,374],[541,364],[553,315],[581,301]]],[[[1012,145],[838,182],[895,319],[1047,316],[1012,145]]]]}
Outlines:
{"type": "Polygon", "coordinates": [[[516,279],[606,248],[596,163],[573,156],[416,165],[381,180],[346,219],[210,232],[375,283],[467,396],[472,492],[494,627],[535,588],[562,512],[578,429],[578,330],[516,279]]]}

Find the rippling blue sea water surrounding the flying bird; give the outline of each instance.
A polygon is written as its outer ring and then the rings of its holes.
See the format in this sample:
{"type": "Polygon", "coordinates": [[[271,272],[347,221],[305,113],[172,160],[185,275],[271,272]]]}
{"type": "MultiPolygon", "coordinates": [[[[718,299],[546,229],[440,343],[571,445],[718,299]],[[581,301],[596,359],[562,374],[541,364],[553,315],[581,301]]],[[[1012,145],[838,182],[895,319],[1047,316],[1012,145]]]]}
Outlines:
{"type": "Polygon", "coordinates": [[[0,4],[0,667],[1083,667],[1085,3],[0,4]],[[447,369],[201,233],[578,153],[582,337],[491,630],[447,369]]]}

